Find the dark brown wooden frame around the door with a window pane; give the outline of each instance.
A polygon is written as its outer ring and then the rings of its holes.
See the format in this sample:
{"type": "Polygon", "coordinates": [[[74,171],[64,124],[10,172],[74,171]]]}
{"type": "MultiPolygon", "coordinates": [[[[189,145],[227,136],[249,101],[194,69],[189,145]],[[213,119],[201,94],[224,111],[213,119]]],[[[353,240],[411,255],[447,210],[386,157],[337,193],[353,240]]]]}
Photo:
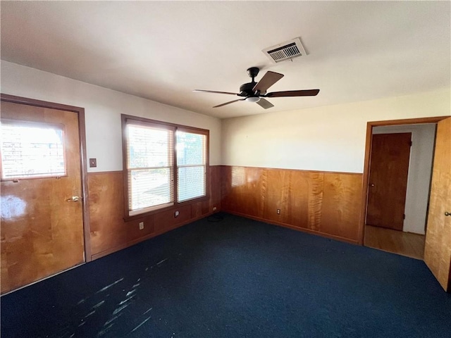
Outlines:
{"type": "Polygon", "coordinates": [[[68,106],[66,104],[56,104],[54,102],[28,99],[21,96],[0,94],[0,101],[11,102],[13,104],[25,104],[41,108],[56,109],[58,111],[71,111],[78,114],[78,136],[80,138],[80,173],[82,183],[82,219],[83,219],[83,240],[85,251],[85,263],[92,261],[91,257],[91,232],[89,227],[89,200],[87,185],[87,160],[86,160],[86,130],[85,130],[85,108],[68,106]]]}

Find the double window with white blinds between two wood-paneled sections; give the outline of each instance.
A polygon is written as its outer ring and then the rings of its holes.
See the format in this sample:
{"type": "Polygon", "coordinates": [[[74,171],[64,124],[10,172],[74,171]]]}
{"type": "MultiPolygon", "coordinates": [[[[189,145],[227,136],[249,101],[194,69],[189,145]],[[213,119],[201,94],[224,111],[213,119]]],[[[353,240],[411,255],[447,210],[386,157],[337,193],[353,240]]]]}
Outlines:
{"type": "Polygon", "coordinates": [[[122,120],[126,217],[206,197],[208,130],[122,120]]]}

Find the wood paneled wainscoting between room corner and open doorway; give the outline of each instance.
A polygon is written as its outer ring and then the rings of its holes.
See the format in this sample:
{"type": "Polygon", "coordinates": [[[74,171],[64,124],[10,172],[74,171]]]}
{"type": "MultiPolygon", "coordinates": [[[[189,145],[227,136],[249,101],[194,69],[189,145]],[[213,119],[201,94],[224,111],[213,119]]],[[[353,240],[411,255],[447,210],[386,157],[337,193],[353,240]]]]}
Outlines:
{"type": "Polygon", "coordinates": [[[362,174],[223,165],[221,175],[222,211],[359,243],[362,174]]]}

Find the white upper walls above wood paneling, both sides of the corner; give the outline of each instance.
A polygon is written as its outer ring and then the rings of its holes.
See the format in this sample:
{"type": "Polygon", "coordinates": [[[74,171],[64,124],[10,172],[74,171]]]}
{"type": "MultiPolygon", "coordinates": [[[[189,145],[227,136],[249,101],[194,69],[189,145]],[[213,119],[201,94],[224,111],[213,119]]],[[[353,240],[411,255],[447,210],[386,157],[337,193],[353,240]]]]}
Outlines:
{"type": "MultiPolygon", "coordinates": [[[[450,89],[221,120],[1,61],[1,93],[85,108],[89,172],[122,170],[121,113],[210,130],[211,165],[362,173],[366,123],[451,115],[450,89]]],[[[290,98],[286,98],[290,99],[290,98]]]]}

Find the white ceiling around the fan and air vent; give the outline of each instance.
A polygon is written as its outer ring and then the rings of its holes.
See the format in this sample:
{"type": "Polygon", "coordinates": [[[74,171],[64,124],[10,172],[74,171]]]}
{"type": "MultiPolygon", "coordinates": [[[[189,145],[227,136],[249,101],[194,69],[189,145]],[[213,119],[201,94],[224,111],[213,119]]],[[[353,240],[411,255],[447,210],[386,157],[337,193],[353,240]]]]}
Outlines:
{"type": "Polygon", "coordinates": [[[229,118],[450,87],[450,1],[1,1],[1,59],[229,118]],[[272,63],[266,47],[300,37],[308,55],[272,63]],[[269,92],[221,94],[247,68],[285,77],[269,92]]]}

